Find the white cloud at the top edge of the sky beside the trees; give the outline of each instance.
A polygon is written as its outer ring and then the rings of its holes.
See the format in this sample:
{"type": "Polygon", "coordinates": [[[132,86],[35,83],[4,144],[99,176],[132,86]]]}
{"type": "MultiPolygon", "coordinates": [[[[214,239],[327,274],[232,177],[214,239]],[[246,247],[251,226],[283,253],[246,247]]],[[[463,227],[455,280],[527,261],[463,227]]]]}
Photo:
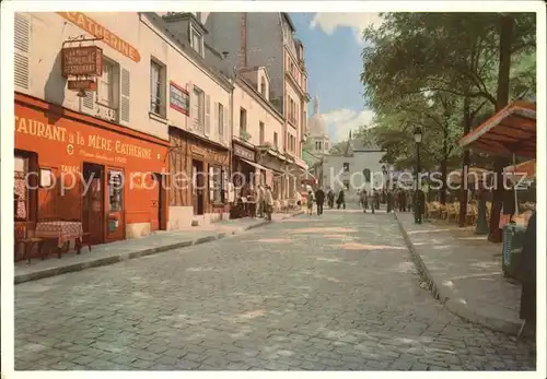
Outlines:
{"type": "Polygon", "coordinates": [[[358,44],[362,44],[363,29],[370,25],[380,27],[383,23],[379,13],[315,13],[310,22],[310,28],[321,28],[328,35],[338,27],[351,27],[358,44]]]}

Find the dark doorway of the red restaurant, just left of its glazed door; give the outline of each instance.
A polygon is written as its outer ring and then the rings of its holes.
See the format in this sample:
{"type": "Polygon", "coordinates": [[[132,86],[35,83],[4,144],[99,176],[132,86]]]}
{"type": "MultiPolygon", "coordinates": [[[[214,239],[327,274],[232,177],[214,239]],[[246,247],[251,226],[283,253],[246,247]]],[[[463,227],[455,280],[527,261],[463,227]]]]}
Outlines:
{"type": "Polygon", "coordinates": [[[90,244],[105,241],[104,236],[104,166],[83,163],[83,206],[82,227],[90,235],[90,244]]]}

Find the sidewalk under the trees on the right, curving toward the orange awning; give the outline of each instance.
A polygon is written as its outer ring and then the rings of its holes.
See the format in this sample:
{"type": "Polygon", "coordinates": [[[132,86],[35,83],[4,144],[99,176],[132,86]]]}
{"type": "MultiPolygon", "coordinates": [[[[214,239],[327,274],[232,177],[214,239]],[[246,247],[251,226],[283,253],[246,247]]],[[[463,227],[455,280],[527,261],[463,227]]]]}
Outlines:
{"type": "Polygon", "coordinates": [[[450,311],[492,330],[517,334],[521,285],[502,276],[501,245],[454,224],[416,225],[410,213],[395,216],[418,270],[450,311]]]}

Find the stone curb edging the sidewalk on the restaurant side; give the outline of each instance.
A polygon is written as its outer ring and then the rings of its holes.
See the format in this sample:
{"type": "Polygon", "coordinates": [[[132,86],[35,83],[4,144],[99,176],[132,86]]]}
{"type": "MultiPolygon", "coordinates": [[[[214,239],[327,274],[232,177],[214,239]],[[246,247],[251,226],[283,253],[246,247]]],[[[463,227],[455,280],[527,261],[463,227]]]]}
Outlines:
{"type": "MultiPolygon", "coordinates": [[[[291,214],[287,217],[283,217],[282,220],[295,217],[300,214],[302,214],[302,213],[294,213],[294,214],[291,214]]],[[[249,229],[254,229],[254,228],[257,228],[257,227],[270,224],[270,223],[271,223],[271,221],[264,221],[264,222],[257,223],[255,225],[248,225],[248,226],[240,228],[240,230],[232,232],[232,235],[236,235],[240,232],[246,232],[249,229]]],[[[66,274],[69,272],[78,272],[78,271],[82,271],[82,270],[86,270],[86,269],[109,265],[109,264],[127,261],[130,259],[156,254],[156,253],[168,251],[168,250],[181,249],[181,248],[185,248],[188,246],[211,242],[214,240],[222,239],[226,236],[228,236],[226,233],[221,232],[221,233],[216,233],[211,236],[200,237],[198,239],[188,239],[188,240],[179,241],[176,244],[159,246],[155,248],[124,252],[124,253],[120,253],[117,256],[112,256],[112,257],[104,257],[104,258],[100,258],[100,259],[88,261],[88,262],[78,262],[78,263],[72,263],[69,265],[63,265],[60,268],[46,269],[46,270],[42,270],[42,271],[37,271],[37,272],[14,275],[13,283],[16,285],[16,284],[25,283],[25,282],[32,282],[32,281],[40,280],[40,279],[57,276],[57,275],[66,274]]]]}

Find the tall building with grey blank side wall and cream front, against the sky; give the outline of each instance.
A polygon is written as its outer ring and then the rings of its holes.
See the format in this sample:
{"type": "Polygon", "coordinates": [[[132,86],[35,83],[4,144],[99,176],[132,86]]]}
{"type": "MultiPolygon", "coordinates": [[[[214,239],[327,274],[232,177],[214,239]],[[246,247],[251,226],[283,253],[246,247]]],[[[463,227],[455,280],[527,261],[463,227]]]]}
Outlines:
{"type": "Polygon", "coordinates": [[[304,46],[294,38],[288,13],[211,12],[205,22],[207,40],[226,52],[237,70],[265,67],[269,73],[269,102],[283,115],[282,147],[287,175],[280,199],[292,199],[306,171],[302,147],[307,137],[307,73],[304,46]],[[268,40],[265,44],[265,40],[268,40]]]}

